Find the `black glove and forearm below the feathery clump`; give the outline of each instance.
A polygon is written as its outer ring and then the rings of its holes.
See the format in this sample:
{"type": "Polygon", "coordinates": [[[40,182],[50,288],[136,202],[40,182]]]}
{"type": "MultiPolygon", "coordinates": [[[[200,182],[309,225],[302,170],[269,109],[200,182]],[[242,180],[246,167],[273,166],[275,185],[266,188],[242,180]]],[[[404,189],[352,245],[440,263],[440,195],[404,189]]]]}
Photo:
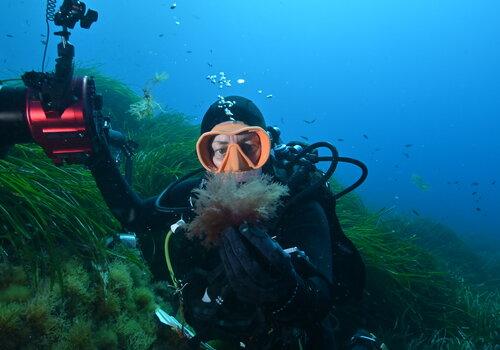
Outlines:
{"type": "Polygon", "coordinates": [[[257,226],[242,224],[238,229],[226,229],[219,254],[238,297],[262,306],[273,318],[307,323],[329,311],[327,282],[300,276],[290,254],[257,226]]]}

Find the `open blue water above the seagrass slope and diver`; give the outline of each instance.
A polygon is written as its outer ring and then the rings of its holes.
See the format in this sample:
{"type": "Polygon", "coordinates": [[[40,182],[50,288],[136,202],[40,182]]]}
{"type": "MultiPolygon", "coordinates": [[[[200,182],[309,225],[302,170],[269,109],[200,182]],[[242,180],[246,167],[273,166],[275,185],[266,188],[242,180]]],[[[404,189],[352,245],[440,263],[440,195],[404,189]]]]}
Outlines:
{"type": "MultiPolygon", "coordinates": [[[[40,68],[42,3],[2,1],[0,79],[40,68]]],[[[194,122],[218,94],[249,97],[285,139],[330,141],[366,162],[358,192],[370,208],[500,236],[500,2],[86,3],[100,18],[73,31],[77,62],[138,92],[155,72],[169,73],[154,96],[194,122]],[[221,71],[231,87],[206,79],[221,71]]],[[[49,68],[55,45],[51,38],[49,68]]],[[[345,183],[356,174],[338,172],[345,183]]]]}

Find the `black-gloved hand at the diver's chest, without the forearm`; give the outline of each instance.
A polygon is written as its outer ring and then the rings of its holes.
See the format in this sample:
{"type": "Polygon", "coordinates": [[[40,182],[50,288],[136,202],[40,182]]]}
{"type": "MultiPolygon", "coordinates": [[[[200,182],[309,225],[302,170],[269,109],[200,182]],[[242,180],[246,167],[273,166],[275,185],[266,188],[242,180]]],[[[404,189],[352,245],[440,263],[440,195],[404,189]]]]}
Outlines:
{"type": "Polygon", "coordinates": [[[229,283],[241,300],[280,305],[298,288],[300,277],[290,255],[255,225],[226,229],[219,254],[229,283]]]}

